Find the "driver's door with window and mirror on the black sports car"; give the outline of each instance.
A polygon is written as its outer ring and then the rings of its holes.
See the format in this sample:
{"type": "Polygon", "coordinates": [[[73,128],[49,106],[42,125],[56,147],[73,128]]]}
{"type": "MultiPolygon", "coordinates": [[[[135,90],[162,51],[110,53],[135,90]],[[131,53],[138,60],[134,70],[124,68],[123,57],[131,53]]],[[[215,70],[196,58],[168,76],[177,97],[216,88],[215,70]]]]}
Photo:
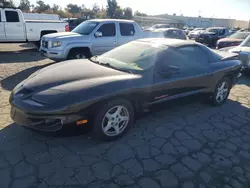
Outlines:
{"type": "Polygon", "coordinates": [[[199,50],[196,45],[168,48],[161,55],[155,67],[150,103],[188,96],[208,89],[208,59],[205,53],[199,50]],[[203,53],[201,56],[198,54],[200,52],[203,53]]]}

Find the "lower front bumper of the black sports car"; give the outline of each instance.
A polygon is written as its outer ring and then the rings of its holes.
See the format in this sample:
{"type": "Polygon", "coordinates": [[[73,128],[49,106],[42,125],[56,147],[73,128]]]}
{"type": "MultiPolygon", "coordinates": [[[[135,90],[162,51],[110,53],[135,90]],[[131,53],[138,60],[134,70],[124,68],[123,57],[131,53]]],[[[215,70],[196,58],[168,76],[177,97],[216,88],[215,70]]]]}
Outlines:
{"type": "Polygon", "coordinates": [[[56,132],[65,124],[75,123],[85,118],[79,115],[34,115],[26,113],[14,105],[11,105],[10,116],[18,125],[45,132],[56,132]]]}

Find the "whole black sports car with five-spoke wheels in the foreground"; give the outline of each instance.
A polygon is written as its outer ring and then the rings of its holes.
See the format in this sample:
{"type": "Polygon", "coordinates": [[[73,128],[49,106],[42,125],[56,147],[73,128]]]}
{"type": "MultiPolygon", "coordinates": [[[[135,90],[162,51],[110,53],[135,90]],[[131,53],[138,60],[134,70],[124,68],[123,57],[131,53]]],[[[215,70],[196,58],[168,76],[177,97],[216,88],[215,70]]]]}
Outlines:
{"type": "Polygon", "coordinates": [[[111,140],[133,124],[135,112],[155,103],[203,93],[223,104],[240,67],[235,54],[195,42],[141,39],[32,74],[11,93],[11,117],[42,131],[92,121],[95,136],[111,140]]]}

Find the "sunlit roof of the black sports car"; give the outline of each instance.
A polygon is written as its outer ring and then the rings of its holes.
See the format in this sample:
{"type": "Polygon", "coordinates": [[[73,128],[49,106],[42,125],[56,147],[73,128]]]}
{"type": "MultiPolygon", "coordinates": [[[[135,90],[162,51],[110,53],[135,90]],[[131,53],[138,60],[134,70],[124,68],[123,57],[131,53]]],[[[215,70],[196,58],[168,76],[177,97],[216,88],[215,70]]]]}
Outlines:
{"type": "Polygon", "coordinates": [[[139,39],[137,41],[147,42],[151,44],[159,44],[172,47],[181,47],[187,45],[196,45],[197,43],[189,40],[179,40],[179,39],[168,39],[168,38],[145,38],[139,39]]]}

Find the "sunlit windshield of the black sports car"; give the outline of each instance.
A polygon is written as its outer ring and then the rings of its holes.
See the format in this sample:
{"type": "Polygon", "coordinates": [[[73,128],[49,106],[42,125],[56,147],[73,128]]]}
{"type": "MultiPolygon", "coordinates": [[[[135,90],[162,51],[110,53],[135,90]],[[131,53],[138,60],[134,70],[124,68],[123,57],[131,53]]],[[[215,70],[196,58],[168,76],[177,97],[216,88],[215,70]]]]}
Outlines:
{"type": "Polygon", "coordinates": [[[97,61],[119,70],[141,72],[150,69],[157,54],[165,49],[166,46],[134,41],[99,56],[97,61]]]}

